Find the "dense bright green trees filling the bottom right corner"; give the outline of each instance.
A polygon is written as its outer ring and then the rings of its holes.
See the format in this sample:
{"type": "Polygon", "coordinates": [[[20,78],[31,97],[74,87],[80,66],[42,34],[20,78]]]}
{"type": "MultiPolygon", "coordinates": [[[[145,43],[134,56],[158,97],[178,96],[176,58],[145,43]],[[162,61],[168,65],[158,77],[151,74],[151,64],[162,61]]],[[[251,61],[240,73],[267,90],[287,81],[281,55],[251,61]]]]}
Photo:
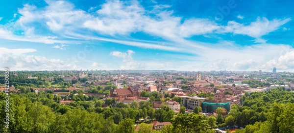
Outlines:
{"type": "Polygon", "coordinates": [[[225,124],[246,127],[236,133],[292,133],[294,93],[284,87],[266,92],[246,93],[243,106],[233,105],[225,124]],[[290,130],[291,131],[291,130],[290,130]]]}

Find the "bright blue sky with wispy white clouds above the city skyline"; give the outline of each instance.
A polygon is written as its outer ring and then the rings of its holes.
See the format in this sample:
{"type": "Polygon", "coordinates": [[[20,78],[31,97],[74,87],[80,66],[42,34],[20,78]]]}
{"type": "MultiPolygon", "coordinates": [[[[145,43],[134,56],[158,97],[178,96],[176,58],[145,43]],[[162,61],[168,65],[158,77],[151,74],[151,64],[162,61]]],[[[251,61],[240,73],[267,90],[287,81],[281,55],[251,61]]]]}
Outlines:
{"type": "Polygon", "coordinates": [[[292,71],[293,1],[0,1],[11,70],[292,71]]]}

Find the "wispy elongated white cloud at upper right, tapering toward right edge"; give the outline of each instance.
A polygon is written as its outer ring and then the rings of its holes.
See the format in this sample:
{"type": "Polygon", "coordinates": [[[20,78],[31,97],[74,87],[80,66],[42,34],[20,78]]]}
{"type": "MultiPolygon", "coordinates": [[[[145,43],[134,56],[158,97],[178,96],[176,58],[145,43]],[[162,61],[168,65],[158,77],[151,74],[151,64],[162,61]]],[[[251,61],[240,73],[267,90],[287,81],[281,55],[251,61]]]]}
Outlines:
{"type": "Polygon", "coordinates": [[[223,27],[220,32],[231,32],[234,34],[243,34],[254,38],[260,38],[263,35],[277,30],[279,27],[289,21],[291,21],[290,18],[284,20],[274,19],[271,21],[269,21],[267,18],[257,18],[256,22],[252,22],[250,25],[229,21],[227,26],[223,27]]]}

